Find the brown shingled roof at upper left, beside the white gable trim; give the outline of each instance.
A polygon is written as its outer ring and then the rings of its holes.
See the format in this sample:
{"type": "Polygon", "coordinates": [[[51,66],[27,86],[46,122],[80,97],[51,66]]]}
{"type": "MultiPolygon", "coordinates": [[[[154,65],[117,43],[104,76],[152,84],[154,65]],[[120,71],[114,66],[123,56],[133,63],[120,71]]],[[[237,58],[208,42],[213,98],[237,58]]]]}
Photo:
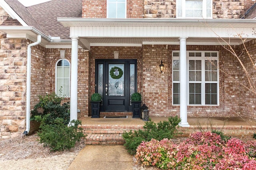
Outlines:
{"type": "Polygon", "coordinates": [[[17,0],[5,1],[26,24],[47,36],[70,39],[70,29],[59,23],[57,18],[82,18],[82,0],[52,0],[29,7],[17,0]]]}

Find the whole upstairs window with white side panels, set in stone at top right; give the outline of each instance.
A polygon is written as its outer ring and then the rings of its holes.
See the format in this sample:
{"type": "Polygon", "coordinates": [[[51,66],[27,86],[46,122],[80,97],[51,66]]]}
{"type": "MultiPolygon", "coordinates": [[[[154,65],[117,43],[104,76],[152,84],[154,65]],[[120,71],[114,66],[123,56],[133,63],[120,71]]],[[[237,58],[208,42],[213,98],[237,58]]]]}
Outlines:
{"type": "Polygon", "coordinates": [[[212,18],[212,0],[177,0],[177,18],[212,18]]]}

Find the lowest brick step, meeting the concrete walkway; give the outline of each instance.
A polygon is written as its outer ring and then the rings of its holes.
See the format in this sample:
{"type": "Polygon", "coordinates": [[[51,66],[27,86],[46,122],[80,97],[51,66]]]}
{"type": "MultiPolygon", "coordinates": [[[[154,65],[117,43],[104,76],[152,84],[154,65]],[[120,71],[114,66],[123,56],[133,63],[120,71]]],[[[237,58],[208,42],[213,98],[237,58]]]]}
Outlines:
{"type": "Polygon", "coordinates": [[[85,145],[124,145],[122,134],[88,134],[85,145]]]}

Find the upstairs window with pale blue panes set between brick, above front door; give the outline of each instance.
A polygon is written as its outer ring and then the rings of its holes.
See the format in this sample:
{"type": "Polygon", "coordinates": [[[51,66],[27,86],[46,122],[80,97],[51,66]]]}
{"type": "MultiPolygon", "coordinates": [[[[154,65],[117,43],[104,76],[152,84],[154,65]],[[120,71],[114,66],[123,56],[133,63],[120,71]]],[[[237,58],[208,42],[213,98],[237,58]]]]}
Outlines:
{"type": "Polygon", "coordinates": [[[126,0],[108,0],[107,18],[126,18],[126,0]]]}

